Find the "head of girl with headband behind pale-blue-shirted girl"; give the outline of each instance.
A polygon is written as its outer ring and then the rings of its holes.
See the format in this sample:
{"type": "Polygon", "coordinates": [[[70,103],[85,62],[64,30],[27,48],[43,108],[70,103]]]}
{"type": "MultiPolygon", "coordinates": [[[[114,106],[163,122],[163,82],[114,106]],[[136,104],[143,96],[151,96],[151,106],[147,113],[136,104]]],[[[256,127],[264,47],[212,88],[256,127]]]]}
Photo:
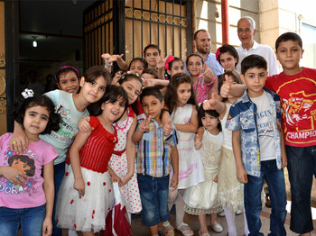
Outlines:
{"type": "Polygon", "coordinates": [[[79,91],[79,79],[80,73],[79,69],[66,64],[58,68],[55,73],[55,82],[60,90],[63,90],[70,94],[77,94],[79,91]]]}

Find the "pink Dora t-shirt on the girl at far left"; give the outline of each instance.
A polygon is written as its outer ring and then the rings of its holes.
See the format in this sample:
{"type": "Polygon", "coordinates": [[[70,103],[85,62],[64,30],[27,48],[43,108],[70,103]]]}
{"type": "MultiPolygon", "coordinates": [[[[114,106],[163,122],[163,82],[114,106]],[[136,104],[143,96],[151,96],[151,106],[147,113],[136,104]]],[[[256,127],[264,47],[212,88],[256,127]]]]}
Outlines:
{"type": "Polygon", "coordinates": [[[0,166],[19,168],[29,177],[26,185],[14,186],[5,177],[0,177],[0,206],[14,209],[36,207],[46,203],[42,188],[42,166],[58,157],[58,152],[46,141],[29,143],[22,155],[10,150],[12,133],[0,137],[0,166]]]}

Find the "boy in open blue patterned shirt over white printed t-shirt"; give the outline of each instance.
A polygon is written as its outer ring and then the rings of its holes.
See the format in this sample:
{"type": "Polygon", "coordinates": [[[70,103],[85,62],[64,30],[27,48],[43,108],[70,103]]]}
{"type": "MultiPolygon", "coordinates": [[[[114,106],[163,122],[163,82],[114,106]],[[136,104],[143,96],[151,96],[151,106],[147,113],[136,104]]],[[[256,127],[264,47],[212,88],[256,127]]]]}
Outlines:
{"type": "Polygon", "coordinates": [[[250,55],[243,59],[240,77],[247,89],[230,107],[226,126],[233,132],[237,179],[245,184],[249,235],[264,235],[260,233],[264,179],[272,200],[271,235],[286,235],[283,176],[286,154],[281,130],[281,104],[278,95],[264,88],[266,69],[266,61],[261,56],[250,55]]]}

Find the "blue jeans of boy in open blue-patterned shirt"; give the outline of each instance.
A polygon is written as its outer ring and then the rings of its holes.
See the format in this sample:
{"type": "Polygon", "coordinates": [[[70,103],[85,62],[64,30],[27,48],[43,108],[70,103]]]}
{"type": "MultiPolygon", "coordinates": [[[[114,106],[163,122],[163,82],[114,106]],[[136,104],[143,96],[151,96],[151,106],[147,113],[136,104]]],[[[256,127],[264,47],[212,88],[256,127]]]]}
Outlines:
{"type": "Polygon", "coordinates": [[[248,222],[249,236],[264,235],[260,232],[260,213],[262,210],[261,192],[264,179],[269,187],[272,205],[270,215],[270,231],[268,235],[286,235],[284,222],[286,218],[286,192],[283,169],[276,167],[276,160],[261,161],[260,177],[247,175],[248,183],[245,185],[245,210],[248,222]]]}

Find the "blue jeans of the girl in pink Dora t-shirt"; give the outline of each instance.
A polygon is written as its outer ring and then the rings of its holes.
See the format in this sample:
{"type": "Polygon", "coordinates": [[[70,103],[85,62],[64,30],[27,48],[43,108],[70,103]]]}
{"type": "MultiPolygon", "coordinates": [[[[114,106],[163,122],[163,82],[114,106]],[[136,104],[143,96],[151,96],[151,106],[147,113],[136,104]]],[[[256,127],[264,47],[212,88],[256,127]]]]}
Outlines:
{"type": "Polygon", "coordinates": [[[13,209],[0,207],[0,233],[16,236],[21,226],[22,236],[42,236],[42,222],[46,215],[46,204],[37,207],[13,209]]]}

